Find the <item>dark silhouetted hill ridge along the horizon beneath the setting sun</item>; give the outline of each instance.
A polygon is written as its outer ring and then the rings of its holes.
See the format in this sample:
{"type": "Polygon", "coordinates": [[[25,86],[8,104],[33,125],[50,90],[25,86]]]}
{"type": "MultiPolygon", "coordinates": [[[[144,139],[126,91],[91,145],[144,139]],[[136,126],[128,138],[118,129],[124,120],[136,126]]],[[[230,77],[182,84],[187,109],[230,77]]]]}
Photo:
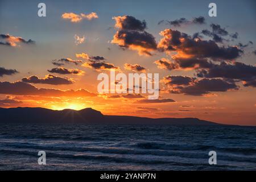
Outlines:
{"type": "Polygon", "coordinates": [[[126,115],[103,115],[92,108],[51,110],[42,107],[1,108],[1,123],[86,123],[141,125],[220,125],[197,118],[143,118],[126,115]]]}

